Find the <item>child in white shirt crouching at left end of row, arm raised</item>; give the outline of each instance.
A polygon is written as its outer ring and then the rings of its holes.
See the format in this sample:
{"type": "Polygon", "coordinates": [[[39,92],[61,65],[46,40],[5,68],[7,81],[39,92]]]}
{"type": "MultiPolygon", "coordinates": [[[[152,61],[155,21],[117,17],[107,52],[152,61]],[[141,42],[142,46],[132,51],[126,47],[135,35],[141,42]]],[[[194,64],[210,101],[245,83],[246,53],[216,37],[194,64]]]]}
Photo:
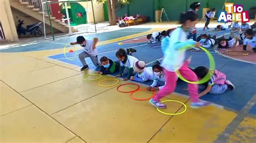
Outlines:
{"type": "Polygon", "coordinates": [[[84,51],[78,55],[79,60],[83,64],[83,67],[80,69],[81,71],[84,71],[89,68],[85,62],[85,58],[87,57],[91,59],[93,65],[95,65],[96,67],[100,66],[98,63],[98,52],[96,49],[97,42],[98,38],[84,39],[83,36],[78,36],[76,42],[70,43],[70,45],[79,44],[84,49],[84,51]]]}

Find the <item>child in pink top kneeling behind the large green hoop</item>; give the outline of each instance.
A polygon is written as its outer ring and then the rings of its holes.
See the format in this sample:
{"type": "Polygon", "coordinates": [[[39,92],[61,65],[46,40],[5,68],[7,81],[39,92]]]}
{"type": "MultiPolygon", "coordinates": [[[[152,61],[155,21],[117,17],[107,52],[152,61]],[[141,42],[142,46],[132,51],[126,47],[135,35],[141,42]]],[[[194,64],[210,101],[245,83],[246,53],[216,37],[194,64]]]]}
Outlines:
{"type": "MultiPolygon", "coordinates": [[[[200,66],[195,68],[193,71],[196,73],[198,79],[200,80],[207,75],[209,69],[200,66]]],[[[208,92],[210,94],[223,94],[227,89],[234,89],[234,85],[230,81],[226,80],[225,74],[216,69],[213,72],[214,73],[208,82],[199,85],[199,87],[204,89],[204,91],[198,95],[199,97],[207,94],[208,92]]]]}

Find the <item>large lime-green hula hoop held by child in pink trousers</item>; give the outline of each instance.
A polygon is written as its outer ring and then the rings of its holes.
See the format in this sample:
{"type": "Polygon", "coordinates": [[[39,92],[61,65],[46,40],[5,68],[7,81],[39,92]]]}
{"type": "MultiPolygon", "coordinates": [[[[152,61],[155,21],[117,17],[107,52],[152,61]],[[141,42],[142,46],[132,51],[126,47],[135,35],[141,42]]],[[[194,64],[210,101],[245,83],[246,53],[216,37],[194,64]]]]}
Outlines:
{"type": "MultiPolygon", "coordinates": [[[[190,47],[193,47],[193,46],[194,46],[194,45],[186,45],[186,46],[184,46],[183,48],[181,48],[181,50],[182,50],[182,49],[187,49],[187,48],[190,48],[190,47]]],[[[180,74],[179,70],[177,70],[177,71],[176,71],[176,74],[178,75],[178,77],[180,78],[180,80],[183,80],[183,81],[185,81],[185,82],[187,82],[187,83],[191,83],[191,84],[202,84],[202,83],[207,82],[207,81],[211,78],[211,76],[213,75],[213,71],[214,71],[214,69],[215,69],[215,61],[214,61],[214,59],[213,59],[213,56],[212,56],[212,54],[211,54],[210,52],[208,52],[207,49],[205,49],[205,48],[203,48],[203,47],[200,47],[200,48],[203,49],[203,51],[207,54],[207,56],[208,56],[208,58],[209,58],[209,60],[210,60],[210,70],[208,71],[207,75],[206,75],[204,78],[202,78],[201,80],[199,80],[199,81],[192,82],[192,81],[186,80],[186,78],[184,78],[184,77],[180,74]]]]}

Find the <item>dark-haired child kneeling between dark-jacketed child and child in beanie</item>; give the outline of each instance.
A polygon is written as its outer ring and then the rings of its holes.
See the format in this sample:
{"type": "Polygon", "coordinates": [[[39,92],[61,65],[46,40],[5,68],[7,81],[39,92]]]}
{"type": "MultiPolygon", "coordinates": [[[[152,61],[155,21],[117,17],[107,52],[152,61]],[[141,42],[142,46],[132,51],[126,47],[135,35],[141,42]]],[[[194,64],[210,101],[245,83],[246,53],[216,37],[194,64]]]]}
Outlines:
{"type": "Polygon", "coordinates": [[[122,77],[122,75],[124,74],[124,70],[126,68],[128,69],[128,74],[123,81],[129,80],[133,73],[133,64],[137,62],[138,59],[134,56],[127,55],[125,49],[122,48],[118,49],[116,57],[120,61],[119,75],[117,75],[116,77],[122,77]]]}

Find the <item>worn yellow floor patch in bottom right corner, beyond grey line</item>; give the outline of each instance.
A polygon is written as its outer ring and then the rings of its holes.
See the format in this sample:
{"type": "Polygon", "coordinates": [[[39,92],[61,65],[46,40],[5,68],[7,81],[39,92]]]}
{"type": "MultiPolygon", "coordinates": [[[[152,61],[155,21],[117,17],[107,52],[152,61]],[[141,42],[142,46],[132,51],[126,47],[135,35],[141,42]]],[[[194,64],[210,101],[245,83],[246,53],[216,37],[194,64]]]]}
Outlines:
{"type": "Polygon", "coordinates": [[[246,117],[230,135],[228,142],[256,142],[256,119],[246,117]]]}

